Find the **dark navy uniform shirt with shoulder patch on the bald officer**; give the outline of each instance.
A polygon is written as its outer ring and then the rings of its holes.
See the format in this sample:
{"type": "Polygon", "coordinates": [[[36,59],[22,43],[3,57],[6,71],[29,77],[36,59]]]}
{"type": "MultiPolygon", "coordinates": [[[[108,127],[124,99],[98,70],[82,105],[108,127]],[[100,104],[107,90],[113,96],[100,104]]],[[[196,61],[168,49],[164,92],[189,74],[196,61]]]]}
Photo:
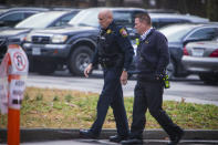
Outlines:
{"type": "Polygon", "coordinates": [[[97,63],[101,63],[100,58],[110,58],[110,61],[114,62],[114,65],[120,65],[121,68],[128,70],[133,55],[134,51],[128,40],[126,29],[116,25],[113,21],[107,29],[100,30],[97,49],[95,49],[91,63],[96,65],[97,63]],[[117,55],[122,56],[122,60],[121,58],[117,59],[117,55]]]}

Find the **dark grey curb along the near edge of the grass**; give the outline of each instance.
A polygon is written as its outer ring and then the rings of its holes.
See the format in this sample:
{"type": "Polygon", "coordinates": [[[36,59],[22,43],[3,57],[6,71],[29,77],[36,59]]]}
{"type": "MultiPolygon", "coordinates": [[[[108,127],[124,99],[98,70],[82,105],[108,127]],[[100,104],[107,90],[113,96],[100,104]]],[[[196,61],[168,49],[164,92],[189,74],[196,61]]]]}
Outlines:
{"type": "MultiPolygon", "coordinates": [[[[22,142],[42,142],[80,138],[79,128],[21,128],[20,141],[22,142]]],[[[107,139],[115,135],[116,130],[103,130],[101,139],[107,139]]],[[[146,130],[144,139],[166,139],[168,136],[163,130],[146,130]]],[[[218,141],[218,130],[185,130],[183,139],[195,141],[218,141]]],[[[0,130],[0,143],[7,142],[7,130],[0,130]]]]}

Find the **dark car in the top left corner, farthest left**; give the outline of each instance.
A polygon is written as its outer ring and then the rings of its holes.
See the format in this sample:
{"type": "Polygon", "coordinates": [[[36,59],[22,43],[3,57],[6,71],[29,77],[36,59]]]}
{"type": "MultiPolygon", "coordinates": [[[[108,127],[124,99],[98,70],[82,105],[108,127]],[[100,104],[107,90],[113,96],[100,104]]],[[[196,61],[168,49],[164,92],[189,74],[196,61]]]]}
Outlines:
{"type": "Polygon", "coordinates": [[[0,27],[14,27],[30,15],[48,10],[45,8],[10,8],[0,10],[0,27]]]}

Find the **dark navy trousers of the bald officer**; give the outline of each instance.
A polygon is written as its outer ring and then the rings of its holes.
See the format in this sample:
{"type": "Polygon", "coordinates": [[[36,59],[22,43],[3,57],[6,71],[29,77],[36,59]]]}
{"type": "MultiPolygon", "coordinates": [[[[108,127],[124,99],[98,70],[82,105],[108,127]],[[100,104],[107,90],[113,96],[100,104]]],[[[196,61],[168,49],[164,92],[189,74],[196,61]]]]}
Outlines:
{"type": "Polygon", "coordinates": [[[102,126],[110,105],[113,108],[116,121],[117,134],[121,136],[128,135],[128,123],[120,81],[121,74],[122,69],[112,68],[104,70],[104,86],[97,102],[96,120],[91,127],[91,131],[96,135],[98,135],[102,131],[102,126]]]}

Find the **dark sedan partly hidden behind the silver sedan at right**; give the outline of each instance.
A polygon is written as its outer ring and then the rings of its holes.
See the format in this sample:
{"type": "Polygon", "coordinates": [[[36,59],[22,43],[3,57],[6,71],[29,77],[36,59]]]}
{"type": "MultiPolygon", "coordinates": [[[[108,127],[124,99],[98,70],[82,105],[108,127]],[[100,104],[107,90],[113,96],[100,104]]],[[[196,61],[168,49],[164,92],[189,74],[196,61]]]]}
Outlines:
{"type": "Polygon", "coordinates": [[[174,76],[187,76],[189,72],[184,68],[181,58],[184,46],[188,42],[210,41],[218,37],[218,24],[216,23],[186,23],[173,24],[159,29],[168,39],[170,63],[167,73],[170,79],[174,76]]]}

